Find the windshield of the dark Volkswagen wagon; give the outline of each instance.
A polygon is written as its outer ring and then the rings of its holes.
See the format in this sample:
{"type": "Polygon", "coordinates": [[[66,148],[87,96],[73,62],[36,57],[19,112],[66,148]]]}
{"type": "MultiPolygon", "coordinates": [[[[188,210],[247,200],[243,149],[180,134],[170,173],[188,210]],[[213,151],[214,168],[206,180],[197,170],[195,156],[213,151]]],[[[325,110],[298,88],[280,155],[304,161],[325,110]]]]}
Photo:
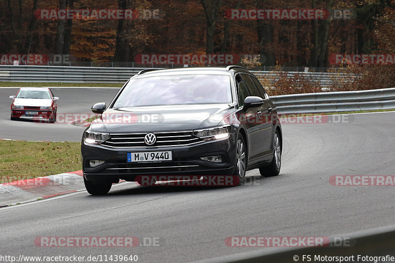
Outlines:
{"type": "Polygon", "coordinates": [[[229,75],[167,75],[131,79],[113,108],[231,102],[229,75]]]}

